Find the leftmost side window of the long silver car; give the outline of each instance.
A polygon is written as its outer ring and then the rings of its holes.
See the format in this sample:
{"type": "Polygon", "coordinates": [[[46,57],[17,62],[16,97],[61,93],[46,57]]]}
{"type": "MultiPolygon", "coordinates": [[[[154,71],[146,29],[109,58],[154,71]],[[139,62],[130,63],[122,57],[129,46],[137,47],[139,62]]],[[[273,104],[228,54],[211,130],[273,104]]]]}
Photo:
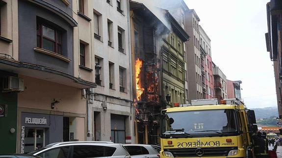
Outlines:
{"type": "Polygon", "coordinates": [[[51,149],[47,152],[41,153],[38,156],[41,158],[68,158],[69,147],[61,147],[51,149]]]}

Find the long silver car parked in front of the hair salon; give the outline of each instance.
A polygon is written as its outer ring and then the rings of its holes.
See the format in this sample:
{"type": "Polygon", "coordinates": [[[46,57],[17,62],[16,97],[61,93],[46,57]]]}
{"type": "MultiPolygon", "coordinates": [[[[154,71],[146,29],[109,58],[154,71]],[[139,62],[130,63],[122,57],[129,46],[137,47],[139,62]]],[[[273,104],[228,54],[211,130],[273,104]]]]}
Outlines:
{"type": "Polygon", "coordinates": [[[41,158],[130,158],[122,144],[101,141],[52,143],[28,154],[41,158]]]}

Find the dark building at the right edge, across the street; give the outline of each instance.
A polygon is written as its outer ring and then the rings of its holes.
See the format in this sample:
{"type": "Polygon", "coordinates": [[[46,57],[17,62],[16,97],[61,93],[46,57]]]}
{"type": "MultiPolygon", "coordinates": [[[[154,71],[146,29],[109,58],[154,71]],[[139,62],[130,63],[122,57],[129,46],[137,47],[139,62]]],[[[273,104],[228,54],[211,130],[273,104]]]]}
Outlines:
{"type": "Polygon", "coordinates": [[[266,4],[268,32],[265,34],[266,48],[270,52],[270,60],[273,61],[277,106],[279,118],[282,119],[282,2],[270,0],[266,4]]]}

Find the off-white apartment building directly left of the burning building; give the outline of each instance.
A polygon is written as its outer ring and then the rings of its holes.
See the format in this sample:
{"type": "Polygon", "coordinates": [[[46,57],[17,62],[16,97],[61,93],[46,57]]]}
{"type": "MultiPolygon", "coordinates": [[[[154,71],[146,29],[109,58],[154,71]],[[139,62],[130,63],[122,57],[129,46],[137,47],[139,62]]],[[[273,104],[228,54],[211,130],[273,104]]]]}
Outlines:
{"type": "MultiPolygon", "coordinates": [[[[93,0],[91,19],[95,83],[89,109],[89,139],[131,143],[132,74],[128,0],[93,0]],[[93,139],[92,139],[93,137],[93,139]]],[[[89,33],[89,32],[88,32],[89,33]]],[[[86,35],[85,32],[84,35],[86,35]]],[[[133,139],[134,140],[134,139],[133,139]]]]}

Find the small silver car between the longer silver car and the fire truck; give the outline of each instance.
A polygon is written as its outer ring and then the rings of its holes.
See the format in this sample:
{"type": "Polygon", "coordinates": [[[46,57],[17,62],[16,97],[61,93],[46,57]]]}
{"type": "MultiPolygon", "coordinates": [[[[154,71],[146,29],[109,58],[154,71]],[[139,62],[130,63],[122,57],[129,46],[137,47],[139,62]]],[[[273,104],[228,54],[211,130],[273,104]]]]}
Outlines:
{"type": "Polygon", "coordinates": [[[159,158],[159,153],[151,145],[125,144],[131,158],[159,158]]]}

